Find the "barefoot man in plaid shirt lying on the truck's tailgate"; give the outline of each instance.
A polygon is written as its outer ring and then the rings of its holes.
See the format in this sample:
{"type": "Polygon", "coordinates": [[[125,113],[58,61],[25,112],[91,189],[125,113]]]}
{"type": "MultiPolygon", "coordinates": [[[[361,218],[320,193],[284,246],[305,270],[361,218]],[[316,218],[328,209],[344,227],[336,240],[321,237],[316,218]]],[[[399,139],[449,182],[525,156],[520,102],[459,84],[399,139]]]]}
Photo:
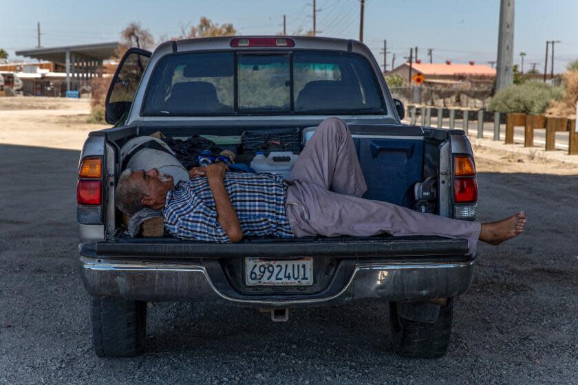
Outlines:
{"type": "Polygon", "coordinates": [[[345,122],[328,118],[299,155],[286,180],[231,173],[224,164],[193,168],[189,181],[151,170],[125,170],[116,205],[127,214],[162,209],[165,227],[180,239],[238,242],[244,236],[438,235],[497,245],[522,233],[526,214],[492,223],[424,214],[361,196],[367,189],[345,122]]]}

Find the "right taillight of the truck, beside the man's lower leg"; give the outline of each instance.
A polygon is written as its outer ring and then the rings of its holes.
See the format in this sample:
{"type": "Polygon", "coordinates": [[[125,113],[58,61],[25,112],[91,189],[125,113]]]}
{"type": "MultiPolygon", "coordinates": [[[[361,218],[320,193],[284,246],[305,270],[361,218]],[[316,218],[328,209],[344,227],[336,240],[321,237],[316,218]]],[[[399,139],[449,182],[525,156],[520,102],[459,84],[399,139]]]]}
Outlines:
{"type": "Polygon", "coordinates": [[[478,179],[468,155],[453,157],[453,217],[474,220],[478,212],[478,179]]]}

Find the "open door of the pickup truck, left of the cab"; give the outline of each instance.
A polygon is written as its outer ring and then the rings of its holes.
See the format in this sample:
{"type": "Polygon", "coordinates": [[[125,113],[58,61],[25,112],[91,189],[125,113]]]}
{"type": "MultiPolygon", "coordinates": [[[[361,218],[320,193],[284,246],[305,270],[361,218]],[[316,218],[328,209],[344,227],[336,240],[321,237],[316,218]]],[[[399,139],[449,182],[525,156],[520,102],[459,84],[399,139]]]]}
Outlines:
{"type": "Polygon", "coordinates": [[[130,48],[122,56],[107,92],[105,106],[108,123],[119,124],[127,117],[150,58],[151,52],[140,48],[130,48]]]}

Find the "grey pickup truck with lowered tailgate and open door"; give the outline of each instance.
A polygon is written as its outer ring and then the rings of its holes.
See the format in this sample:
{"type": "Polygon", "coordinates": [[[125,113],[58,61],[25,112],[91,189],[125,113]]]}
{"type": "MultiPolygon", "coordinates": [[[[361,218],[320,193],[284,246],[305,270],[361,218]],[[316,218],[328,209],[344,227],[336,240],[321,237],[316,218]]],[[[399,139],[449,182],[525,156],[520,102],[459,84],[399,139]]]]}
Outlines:
{"type": "MultiPolygon", "coordinates": [[[[130,237],[114,204],[120,148],[135,137],[301,132],[338,116],[354,138],[368,186],[364,197],[473,221],[475,174],[460,175],[456,167],[468,162],[475,170],[464,132],[403,124],[404,114],[374,56],[358,41],[228,36],[169,41],[154,53],[128,50],[106,99],[107,122],[114,126],[89,133],[78,166],[78,262],[96,354],[142,351],[148,302],[254,307],[286,321],[290,309],[363,301],[371,311],[372,303],[387,301],[398,354],[444,355],[454,301],[473,275],[475,252],[468,253],[466,239],[385,234],[203,243],[167,233],[130,237]],[[246,270],[255,259],[306,259],[312,279],[292,285],[281,276],[278,285],[255,285],[246,270]]],[[[242,144],[237,153],[244,153],[242,144]]]]}

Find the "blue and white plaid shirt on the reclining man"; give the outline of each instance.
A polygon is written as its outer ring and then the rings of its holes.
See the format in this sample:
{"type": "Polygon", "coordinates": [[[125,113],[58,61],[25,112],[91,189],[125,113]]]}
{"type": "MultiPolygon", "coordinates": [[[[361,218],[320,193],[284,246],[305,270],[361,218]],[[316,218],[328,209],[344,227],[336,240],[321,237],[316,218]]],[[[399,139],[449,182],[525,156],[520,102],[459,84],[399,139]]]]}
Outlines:
{"type": "MultiPolygon", "coordinates": [[[[272,174],[231,173],[223,179],[244,236],[294,236],[286,217],[287,182],[272,174]]],[[[206,177],[180,181],[167,194],[162,210],[166,228],[180,239],[229,242],[217,221],[206,177]]]]}

